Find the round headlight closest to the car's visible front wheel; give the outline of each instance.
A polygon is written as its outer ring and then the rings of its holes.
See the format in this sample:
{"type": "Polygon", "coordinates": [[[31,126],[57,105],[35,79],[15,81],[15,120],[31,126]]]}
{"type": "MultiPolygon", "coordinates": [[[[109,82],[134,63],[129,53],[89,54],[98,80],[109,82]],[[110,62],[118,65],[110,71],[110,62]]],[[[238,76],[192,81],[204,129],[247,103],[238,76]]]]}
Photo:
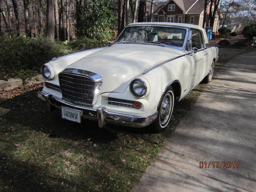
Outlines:
{"type": "Polygon", "coordinates": [[[147,86],[142,79],[134,79],[130,84],[130,90],[136,97],[142,97],[147,93],[147,86]]]}

